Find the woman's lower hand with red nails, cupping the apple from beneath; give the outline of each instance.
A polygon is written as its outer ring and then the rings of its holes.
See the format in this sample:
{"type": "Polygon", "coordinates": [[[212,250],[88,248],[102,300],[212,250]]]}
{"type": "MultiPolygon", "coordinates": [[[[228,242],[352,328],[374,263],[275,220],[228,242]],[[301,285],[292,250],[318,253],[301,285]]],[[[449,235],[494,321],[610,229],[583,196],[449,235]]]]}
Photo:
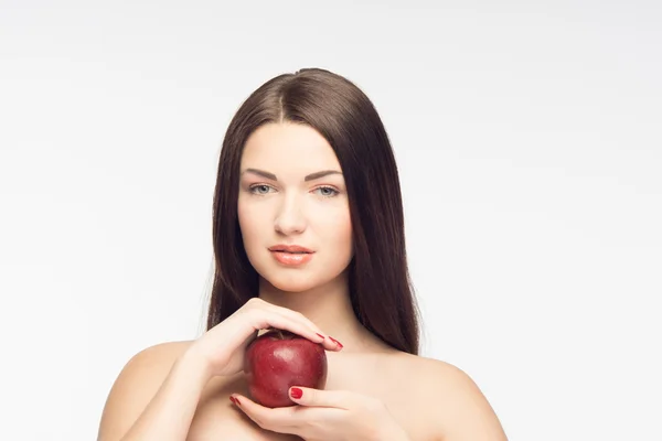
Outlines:
{"type": "Polygon", "coordinates": [[[239,394],[233,394],[229,399],[260,428],[296,434],[307,441],[409,440],[386,406],[376,398],[346,390],[307,387],[290,388],[290,397],[298,406],[271,409],[239,394]],[[297,394],[297,389],[302,394],[297,394]]]}

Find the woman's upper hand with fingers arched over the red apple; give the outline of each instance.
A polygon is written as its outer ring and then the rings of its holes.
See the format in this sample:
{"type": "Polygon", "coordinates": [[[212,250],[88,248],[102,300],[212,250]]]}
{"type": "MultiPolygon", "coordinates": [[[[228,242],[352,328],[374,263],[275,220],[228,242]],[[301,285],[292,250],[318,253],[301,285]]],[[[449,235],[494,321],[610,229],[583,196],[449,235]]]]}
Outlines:
{"type": "Polygon", "coordinates": [[[321,343],[328,351],[342,348],[324,336],[303,314],[253,298],[197,338],[189,352],[203,361],[210,376],[234,375],[244,369],[244,354],[248,343],[257,336],[258,331],[270,327],[290,331],[321,343]]]}

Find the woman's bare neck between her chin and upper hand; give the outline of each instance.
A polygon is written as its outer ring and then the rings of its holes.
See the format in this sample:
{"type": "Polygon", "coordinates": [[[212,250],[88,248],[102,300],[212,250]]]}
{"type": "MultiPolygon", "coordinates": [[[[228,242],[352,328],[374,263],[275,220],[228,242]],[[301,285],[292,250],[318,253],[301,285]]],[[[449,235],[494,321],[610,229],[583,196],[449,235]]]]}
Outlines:
{"type": "Polygon", "coordinates": [[[388,346],[366,330],[356,318],[350,300],[346,276],[301,292],[282,291],[260,278],[259,298],[300,312],[323,333],[341,342],[343,353],[388,349],[388,346]]]}

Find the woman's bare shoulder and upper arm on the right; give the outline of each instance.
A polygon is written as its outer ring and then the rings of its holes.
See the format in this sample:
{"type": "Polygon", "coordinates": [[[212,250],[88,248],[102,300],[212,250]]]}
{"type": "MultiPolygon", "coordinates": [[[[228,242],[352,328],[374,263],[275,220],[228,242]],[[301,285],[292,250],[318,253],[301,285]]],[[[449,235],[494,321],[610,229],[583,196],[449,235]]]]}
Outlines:
{"type": "Polygon", "coordinates": [[[476,381],[459,367],[434,358],[403,354],[418,399],[426,404],[435,432],[444,441],[506,441],[494,409],[476,381]]]}

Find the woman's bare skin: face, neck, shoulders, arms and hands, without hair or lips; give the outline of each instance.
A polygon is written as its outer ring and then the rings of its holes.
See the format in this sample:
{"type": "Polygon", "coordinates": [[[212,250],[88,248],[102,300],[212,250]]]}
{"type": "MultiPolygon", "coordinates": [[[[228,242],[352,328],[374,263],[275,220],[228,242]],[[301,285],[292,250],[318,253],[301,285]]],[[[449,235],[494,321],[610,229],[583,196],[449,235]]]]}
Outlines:
{"type": "Polygon", "coordinates": [[[239,226],[258,298],[194,341],[134,356],[110,390],[98,439],[506,440],[466,373],[393,349],[357,321],[348,291],[349,201],[325,139],[303,125],[263,126],[246,142],[241,171],[239,226]],[[277,244],[314,256],[286,267],[268,250],[277,244]],[[324,346],[324,390],[300,388],[291,408],[249,399],[244,352],[268,327],[324,346]]]}

